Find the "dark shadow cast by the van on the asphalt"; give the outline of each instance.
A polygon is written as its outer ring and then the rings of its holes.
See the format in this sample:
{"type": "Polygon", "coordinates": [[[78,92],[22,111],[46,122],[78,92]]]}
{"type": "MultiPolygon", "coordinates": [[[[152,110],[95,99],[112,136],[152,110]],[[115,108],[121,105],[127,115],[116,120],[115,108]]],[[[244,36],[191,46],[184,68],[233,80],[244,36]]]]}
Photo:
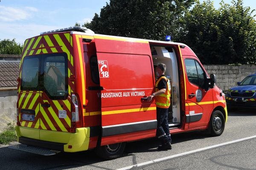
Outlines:
{"type": "MultiPolygon", "coordinates": [[[[201,132],[190,132],[172,135],[172,143],[180,143],[194,139],[204,139],[210,136],[201,132]]],[[[136,142],[129,142],[126,145],[125,156],[131,156],[133,153],[159,152],[157,138],[146,139],[136,142]]],[[[3,170],[64,170],[80,169],[79,167],[87,166],[87,169],[105,169],[105,167],[94,164],[105,164],[105,160],[100,159],[93,150],[78,153],[58,153],[54,156],[41,156],[33,153],[26,153],[18,150],[12,150],[8,147],[0,147],[0,169],[3,170]]]]}

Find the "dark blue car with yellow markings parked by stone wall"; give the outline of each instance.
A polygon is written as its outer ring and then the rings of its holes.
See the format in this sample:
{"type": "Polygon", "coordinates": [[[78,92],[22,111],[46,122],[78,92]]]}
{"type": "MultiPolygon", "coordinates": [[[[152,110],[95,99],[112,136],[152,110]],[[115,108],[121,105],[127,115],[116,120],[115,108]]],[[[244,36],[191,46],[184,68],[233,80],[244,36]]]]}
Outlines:
{"type": "Polygon", "coordinates": [[[226,93],[227,108],[256,108],[256,73],[238,82],[226,93]]]}

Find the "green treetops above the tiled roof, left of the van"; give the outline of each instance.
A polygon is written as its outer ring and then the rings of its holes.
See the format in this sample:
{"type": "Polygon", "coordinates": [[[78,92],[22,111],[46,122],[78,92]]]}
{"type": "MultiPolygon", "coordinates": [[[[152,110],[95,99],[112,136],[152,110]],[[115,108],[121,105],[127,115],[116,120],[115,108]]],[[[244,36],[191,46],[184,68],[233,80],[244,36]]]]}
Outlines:
{"type": "Polygon", "coordinates": [[[0,54],[21,54],[23,46],[15,39],[0,40],[0,54]]]}

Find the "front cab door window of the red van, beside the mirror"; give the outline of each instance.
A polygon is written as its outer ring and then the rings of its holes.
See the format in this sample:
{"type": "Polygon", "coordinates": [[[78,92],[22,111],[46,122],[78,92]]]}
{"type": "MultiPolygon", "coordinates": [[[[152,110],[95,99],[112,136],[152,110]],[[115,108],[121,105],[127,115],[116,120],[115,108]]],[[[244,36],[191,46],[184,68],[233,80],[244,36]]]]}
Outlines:
{"type": "Polygon", "coordinates": [[[185,59],[185,66],[189,82],[204,88],[205,73],[201,65],[195,59],[185,59]]]}

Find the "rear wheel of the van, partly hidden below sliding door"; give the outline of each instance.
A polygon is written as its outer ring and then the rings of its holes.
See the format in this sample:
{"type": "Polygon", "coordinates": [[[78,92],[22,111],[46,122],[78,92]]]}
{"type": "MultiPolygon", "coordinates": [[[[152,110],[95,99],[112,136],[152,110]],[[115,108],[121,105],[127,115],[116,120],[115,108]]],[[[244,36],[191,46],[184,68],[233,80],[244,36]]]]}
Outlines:
{"type": "Polygon", "coordinates": [[[96,154],[106,160],[116,159],[122,156],[125,150],[125,142],[98,146],[95,149],[96,154]]]}

